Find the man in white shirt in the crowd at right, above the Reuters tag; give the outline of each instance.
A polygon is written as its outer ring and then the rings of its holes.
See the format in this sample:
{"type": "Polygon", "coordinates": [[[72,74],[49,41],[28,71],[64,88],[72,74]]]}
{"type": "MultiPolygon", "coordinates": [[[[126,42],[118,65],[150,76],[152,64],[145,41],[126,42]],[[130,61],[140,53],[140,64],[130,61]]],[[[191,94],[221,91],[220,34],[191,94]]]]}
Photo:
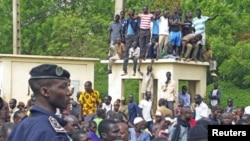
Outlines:
{"type": "Polygon", "coordinates": [[[194,96],[194,101],[196,104],[195,120],[198,121],[200,119],[208,118],[209,108],[208,108],[207,104],[202,101],[202,97],[199,94],[196,94],[194,96]]]}

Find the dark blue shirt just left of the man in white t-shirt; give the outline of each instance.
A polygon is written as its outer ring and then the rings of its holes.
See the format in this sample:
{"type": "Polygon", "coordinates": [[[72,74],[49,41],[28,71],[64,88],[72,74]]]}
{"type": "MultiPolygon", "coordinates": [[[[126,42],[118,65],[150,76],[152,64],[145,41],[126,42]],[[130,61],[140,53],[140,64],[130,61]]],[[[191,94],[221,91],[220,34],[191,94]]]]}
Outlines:
{"type": "Polygon", "coordinates": [[[133,102],[128,104],[128,121],[133,124],[134,119],[137,117],[137,114],[140,113],[138,105],[133,102]]]}

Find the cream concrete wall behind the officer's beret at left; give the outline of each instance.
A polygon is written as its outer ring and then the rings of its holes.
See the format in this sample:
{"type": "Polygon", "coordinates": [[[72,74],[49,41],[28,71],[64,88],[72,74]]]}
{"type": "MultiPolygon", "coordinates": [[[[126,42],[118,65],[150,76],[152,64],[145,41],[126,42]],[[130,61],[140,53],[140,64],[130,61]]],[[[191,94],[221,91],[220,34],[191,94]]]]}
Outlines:
{"type": "MultiPolygon", "coordinates": [[[[40,64],[53,63],[62,66],[71,74],[71,84],[76,92],[84,90],[84,82],[92,81],[94,85],[94,62],[96,58],[29,56],[0,54],[0,88],[5,100],[16,98],[27,102],[30,96],[28,79],[29,71],[40,64]]],[[[30,94],[32,91],[30,90],[30,94]]]]}

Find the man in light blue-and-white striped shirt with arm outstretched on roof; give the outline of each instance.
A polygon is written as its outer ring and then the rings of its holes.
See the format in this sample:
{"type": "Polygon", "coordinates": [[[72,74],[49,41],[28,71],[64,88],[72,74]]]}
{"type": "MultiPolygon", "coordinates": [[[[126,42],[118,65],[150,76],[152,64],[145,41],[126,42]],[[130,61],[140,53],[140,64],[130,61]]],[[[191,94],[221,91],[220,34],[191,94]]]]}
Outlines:
{"type": "Polygon", "coordinates": [[[215,16],[213,17],[207,17],[207,16],[201,16],[201,10],[200,9],[197,9],[196,11],[196,14],[197,14],[197,17],[195,17],[192,21],[193,23],[193,27],[194,27],[194,30],[195,30],[195,34],[201,34],[202,35],[202,39],[200,42],[198,42],[197,44],[199,45],[199,51],[198,51],[198,59],[200,60],[201,59],[201,49],[202,49],[202,46],[205,45],[205,42],[206,42],[206,34],[205,34],[205,29],[206,29],[206,22],[208,20],[214,20],[218,15],[216,14],[215,16]]]}

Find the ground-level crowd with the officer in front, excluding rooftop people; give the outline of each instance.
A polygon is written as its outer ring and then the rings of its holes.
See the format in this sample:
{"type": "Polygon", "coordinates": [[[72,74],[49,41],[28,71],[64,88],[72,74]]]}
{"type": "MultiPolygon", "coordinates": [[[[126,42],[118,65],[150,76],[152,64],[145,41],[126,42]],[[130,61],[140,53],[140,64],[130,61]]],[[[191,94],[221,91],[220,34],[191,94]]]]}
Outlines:
{"type": "Polygon", "coordinates": [[[250,106],[235,107],[229,98],[227,107],[221,108],[218,83],[208,96],[209,102],[199,94],[192,100],[184,85],[176,108],[171,107],[174,101],[160,98],[154,111],[151,91],[146,90],[139,103],[134,94],[112,103],[110,95],[102,99],[87,81],[74,101],[67,70],[42,64],[30,74],[34,94],[26,106],[23,102],[17,105],[15,99],[7,103],[0,98],[3,141],[204,141],[208,125],[250,125],[250,106]]]}

